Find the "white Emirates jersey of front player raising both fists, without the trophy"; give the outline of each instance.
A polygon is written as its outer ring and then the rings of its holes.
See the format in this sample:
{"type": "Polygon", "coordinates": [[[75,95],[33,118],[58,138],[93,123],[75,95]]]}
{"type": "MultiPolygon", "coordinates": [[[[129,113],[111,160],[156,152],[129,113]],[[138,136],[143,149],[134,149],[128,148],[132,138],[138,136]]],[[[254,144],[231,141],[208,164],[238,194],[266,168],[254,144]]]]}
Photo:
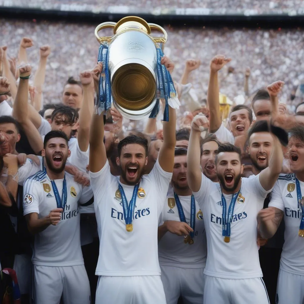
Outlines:
{"type": "MultiPolygon", "coordinates": [[[[242,178],[240,199],[234,206],[230,242],[222,236],[222,195],[219,183],[202,174],[198,192],[193,192],[204,216],[207,237],[205,274],[218,278],[246,279],[262,277],[257,247],[257,212],[264,205],[267,193],[258,175],[242,178]],[[243,198],[243,199],[242,199],[243,198]]],[[[226,213],[232,199],[224,194],[226,213]]]]}

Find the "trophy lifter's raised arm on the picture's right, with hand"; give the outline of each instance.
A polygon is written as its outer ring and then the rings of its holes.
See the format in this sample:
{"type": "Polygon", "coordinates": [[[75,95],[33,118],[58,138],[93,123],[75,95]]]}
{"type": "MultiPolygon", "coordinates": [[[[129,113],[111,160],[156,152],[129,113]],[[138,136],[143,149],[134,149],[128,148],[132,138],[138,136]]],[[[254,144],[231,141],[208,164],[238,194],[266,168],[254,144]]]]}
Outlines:
{"type": "MultiPolygon", "coordinates": [[[[168,57],[161,58],[161,64],[167,69],[172,64],[168,57]]],[[[173,172],[174,150],[175,150],[175,130],[176,130],[176,111],[169,106],[169,121],[163,122],[164,141],[158,155],[158,161],[161,168],[166,172],[173,172]]]]}

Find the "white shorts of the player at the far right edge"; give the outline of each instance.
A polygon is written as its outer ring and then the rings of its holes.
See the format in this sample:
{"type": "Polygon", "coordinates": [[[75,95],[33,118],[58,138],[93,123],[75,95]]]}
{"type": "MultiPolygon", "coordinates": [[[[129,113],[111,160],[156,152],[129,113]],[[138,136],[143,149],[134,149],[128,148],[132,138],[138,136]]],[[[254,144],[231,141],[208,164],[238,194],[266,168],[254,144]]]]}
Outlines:
{"type": "Polygon", "coordinates": [[[277,304],[304,303],[304,275],[294,275],[280,269],[275,302],[277,304]]]}

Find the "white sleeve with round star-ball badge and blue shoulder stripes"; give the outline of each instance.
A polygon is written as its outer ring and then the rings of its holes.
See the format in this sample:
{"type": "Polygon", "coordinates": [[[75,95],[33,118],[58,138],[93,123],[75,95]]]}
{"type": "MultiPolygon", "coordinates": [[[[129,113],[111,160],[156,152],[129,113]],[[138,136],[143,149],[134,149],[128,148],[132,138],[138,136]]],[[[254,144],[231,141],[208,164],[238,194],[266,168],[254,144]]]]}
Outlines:
{"type": "Polygon", "coordinates": [[[39,184],[27,179],[23,186],[23,215],[36,212],[39,214],[39,184]]]}

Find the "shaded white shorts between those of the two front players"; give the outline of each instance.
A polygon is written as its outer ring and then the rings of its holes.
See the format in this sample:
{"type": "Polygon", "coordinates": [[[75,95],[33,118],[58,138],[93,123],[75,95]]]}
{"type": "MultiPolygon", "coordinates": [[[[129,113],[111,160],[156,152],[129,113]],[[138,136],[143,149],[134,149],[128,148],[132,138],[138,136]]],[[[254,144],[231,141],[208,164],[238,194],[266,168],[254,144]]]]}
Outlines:
{"type": "Polygon", "coordinates": [[[206,277],[204,269],[161,265],[161,280],[167,304],[176,304],[180,296],[185,304],[202,304],[206,277]]]}

